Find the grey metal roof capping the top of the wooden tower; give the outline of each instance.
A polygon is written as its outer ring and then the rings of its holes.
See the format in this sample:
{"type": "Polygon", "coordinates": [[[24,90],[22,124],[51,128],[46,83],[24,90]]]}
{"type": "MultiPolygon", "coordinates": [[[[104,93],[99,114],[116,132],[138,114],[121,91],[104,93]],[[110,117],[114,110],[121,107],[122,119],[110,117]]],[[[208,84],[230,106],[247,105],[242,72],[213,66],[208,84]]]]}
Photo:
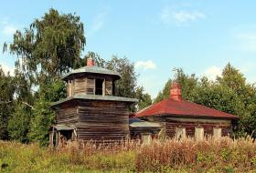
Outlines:
{"type": "Polygon", "coordinates": [[[66,80],[67,78],[69,78],[69,76],[73,76],[75,74],[87,74],[87,73],[117,76],[118,78],[121,78],[121,75],[118,72],[115,72],[106,68],[101,68],[100,66],[82,66],[62,76],[62,79],[66,80]]]}

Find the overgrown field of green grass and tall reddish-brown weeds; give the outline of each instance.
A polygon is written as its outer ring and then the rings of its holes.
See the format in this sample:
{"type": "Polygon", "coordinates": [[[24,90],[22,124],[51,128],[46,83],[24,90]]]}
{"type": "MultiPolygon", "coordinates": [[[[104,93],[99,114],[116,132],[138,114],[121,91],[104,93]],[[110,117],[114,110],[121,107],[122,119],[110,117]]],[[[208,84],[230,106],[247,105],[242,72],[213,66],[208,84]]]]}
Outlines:
{"type": "Polygon", "coordinates": [[[256,143],[228,137],[62,149],[0,141],[0,172],[256,172],[256,143]]]}

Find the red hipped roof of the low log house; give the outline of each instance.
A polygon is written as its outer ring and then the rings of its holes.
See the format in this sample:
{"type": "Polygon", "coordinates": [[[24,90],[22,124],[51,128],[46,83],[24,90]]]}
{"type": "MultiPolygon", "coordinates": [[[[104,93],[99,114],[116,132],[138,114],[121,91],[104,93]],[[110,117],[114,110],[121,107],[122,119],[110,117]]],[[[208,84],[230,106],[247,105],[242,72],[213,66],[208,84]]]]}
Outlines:
{"type": "Polygon", "coordinates": [[[135,113],[134,117],[167,115],[172,117],[210,117],[223,119],[239,118],[214,108],[205,107],[185,100],[177,101],[171,98],[164,99],[149,107],[145,107],[141,111],[135,113]]]}

